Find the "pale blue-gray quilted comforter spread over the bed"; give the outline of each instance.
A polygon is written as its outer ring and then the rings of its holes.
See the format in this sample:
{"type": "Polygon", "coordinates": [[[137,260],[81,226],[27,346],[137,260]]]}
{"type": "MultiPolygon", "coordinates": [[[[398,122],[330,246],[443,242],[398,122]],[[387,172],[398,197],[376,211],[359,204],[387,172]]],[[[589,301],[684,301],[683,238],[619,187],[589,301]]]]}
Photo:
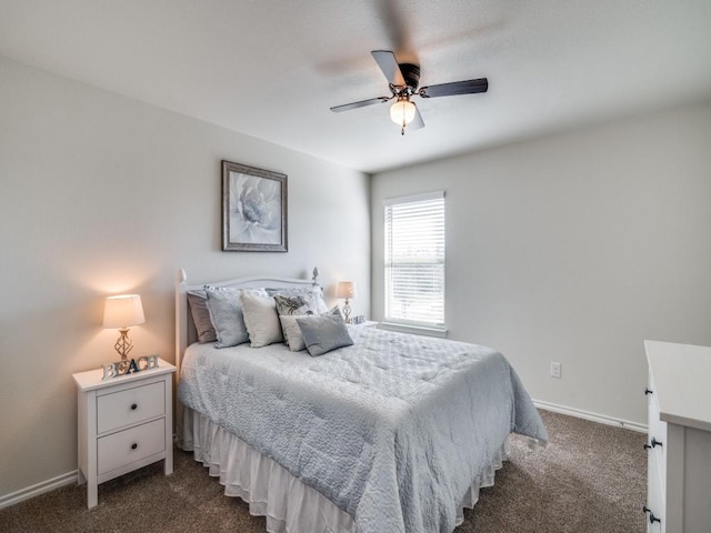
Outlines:
{"type": "Polygon", "coordinates": [[[351,329],[311,358],[192,345],[180,401],[351,514],[362,533],[451,532],[510,432],[548,434],[515,372],[472,344],[351,329]]]}

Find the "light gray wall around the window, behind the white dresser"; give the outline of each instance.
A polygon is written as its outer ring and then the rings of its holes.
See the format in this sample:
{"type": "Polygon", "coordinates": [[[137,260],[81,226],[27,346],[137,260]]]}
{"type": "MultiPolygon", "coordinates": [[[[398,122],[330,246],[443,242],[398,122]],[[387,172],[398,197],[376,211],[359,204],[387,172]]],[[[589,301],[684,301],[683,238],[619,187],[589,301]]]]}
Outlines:
{"type": "Polygon", "coordinates": [[[645,423],[642,341],[711,345],[709,139],[700,105],[374,175],[373,316],[382,200],[443,189],[450,338],[537,400],[645,423]]]}

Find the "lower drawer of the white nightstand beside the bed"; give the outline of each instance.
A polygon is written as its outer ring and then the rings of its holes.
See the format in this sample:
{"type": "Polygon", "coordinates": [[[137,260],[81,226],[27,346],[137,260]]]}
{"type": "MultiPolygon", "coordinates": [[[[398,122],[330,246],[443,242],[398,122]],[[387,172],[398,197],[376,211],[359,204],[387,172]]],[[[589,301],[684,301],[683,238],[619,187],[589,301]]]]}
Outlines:
{"type": "Polygon", "coordinates": [[[159,419],[97,441],[98,475],[166,450],[166,420],[159,419]]]}

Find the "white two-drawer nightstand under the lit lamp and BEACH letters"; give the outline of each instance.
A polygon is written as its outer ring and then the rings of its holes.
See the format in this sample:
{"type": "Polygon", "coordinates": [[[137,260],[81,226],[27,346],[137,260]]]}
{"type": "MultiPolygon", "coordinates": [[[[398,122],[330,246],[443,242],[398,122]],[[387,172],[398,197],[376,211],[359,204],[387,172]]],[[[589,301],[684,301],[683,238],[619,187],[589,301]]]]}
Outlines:
{"type": "Polygon", "coordinates": [[[98,485],[156,461],[173,472],[172,374],[158,366],[102,380],[103,370],[72,374],[78,388],[79,484],[87,506],[98,503],[98,485]]]}

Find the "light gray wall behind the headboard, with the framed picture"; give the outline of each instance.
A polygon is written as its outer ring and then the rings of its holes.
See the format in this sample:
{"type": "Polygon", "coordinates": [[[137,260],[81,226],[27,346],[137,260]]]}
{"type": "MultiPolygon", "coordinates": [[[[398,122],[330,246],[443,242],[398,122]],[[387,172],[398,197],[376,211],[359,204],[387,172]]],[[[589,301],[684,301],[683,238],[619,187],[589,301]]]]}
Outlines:
{"type": "Polygon", "coordinates": [[[133,353],[172,361],[179,268],[370,283],[365,174],[2,59],[0,124],[0,497],[77,467],[71,374],[117,358],[107,294],[141,294],[133,353]],[[222,159],[289,175],[288,253],[220,251],[222,159]]]}

